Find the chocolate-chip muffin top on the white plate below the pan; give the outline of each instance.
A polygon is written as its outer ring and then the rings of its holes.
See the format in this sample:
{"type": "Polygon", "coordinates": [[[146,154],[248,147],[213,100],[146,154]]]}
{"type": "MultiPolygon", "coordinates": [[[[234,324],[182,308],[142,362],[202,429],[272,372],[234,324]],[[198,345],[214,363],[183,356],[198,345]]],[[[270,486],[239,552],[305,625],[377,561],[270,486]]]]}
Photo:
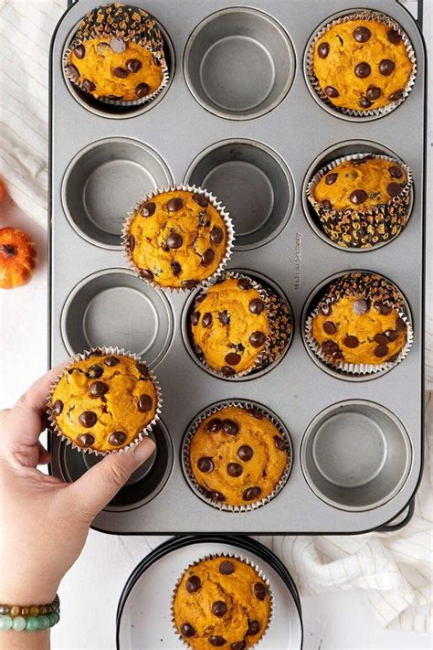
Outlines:
{"type": "Polygon", "coordinates": [[[269,587],[241,559],[204,559],[185,570],[174,593],[174,624],[196,650],[245,650],[266,632],[269,587]]]}

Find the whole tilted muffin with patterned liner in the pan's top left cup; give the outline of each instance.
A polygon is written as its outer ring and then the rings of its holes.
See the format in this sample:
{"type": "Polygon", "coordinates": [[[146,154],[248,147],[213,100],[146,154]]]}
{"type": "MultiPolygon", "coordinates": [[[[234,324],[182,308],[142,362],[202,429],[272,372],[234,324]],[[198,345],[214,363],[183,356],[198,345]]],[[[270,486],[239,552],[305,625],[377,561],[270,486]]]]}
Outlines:
{"type": "Polygon", "coordinates": [[[97,100],[145,101],[168,75],[164,38],[156,21],[139,7],[99,6],[81,20],[65,71],[97,100]]]}

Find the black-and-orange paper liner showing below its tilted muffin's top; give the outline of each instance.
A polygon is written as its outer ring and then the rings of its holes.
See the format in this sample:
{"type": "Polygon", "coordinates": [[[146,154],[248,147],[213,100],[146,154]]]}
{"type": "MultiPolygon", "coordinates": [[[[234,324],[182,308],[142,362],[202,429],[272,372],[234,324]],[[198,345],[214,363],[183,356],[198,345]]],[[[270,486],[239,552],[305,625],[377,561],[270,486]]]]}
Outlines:
{"type": "Polygon", "coordinates": [[[401,163],[389,155],[354,154],[336,158],[332,163],[322,167],[312,176],[307,186],[306,195],[320,218],[322,231],[330,240],[338,243],[342,248],[369,250],[378,244],[394,240],[405,228],[412,186],[412,172],[405,163],[401,163]],[[314,197],[314,189],[322,177],[348,160],[361,161],[364,158],[386,160],[401,167],[407,174],[407,184],[403,186],[400,194],[391,197],[385,203],[371,206],[371,208],[359,210],[356,208],[345,208],[343,210],[323,208],[322,203],[314,197]],[[350,241],[357,240],[360,244],[354,246],[349,241],[343,240],[344,237],[350,238],[350,241]]]}

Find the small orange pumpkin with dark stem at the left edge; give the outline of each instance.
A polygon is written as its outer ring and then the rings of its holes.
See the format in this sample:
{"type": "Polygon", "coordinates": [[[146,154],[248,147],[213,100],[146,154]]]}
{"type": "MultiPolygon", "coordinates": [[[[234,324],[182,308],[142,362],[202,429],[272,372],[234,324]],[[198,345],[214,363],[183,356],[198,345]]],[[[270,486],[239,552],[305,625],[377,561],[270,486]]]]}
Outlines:
{"type": "Polygon", "coordinates": [[[36,262],[36,245],[25,232],[0,229],[0,289],[15,289],[30,282],[36,262]]]}

